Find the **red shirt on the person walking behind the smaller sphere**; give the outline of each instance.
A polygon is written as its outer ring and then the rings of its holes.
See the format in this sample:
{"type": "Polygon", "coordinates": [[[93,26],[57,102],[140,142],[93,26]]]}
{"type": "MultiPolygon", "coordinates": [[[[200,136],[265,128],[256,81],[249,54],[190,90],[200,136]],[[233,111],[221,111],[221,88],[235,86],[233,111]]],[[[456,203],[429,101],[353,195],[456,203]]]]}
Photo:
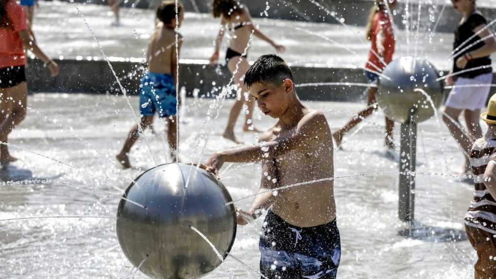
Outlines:
{"type": "MultiPolygon", "coordinates": [[[[379,10],[375,13],[372,23],[371,48],[376,54],[379,54],[379,52],[377,51],[377,35],[381,30],[384,36],[384,40],[382,42],[384,46],[382,58],[384,59],[384,62],[386,62],[386,64],[389,64],[393,59],[394,54],[394,30],[391,24],[391,20],[389,19],[389,15],[383,10],[379,10]]],[[[367,59],[368,62],[366,63],[365,67],[367,69],[377,71],[377,68],[371,65],[372,63],[379,69],[384,69],[386,66],[379,60],[379,58],[377,58],[377,56],[372,53],[372,50],[369,51],[369,57],[367,59]]]]}

